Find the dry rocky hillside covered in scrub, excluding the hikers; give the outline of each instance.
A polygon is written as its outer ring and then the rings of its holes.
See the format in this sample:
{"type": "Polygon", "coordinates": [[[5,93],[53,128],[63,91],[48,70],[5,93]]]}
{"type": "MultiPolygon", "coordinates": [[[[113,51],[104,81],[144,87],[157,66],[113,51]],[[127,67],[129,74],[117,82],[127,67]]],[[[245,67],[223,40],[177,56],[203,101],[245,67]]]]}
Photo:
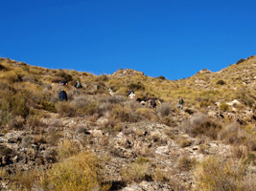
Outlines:
{"type": "Polygon", "coordinates": [[[0,190],[256,190],[255,65],[172,81],[1,58],[0,190]]]}

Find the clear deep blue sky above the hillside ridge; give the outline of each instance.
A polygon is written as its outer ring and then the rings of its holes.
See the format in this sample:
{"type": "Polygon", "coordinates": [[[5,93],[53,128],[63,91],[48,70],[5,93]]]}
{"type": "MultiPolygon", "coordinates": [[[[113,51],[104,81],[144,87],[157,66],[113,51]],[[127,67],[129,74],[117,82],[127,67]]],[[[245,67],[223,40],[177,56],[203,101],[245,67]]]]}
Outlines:
{"type": "Polygon", "coordinates": [[[256,54],[255,0],[0,0],[0,56],[168,79],[256,54]]]}

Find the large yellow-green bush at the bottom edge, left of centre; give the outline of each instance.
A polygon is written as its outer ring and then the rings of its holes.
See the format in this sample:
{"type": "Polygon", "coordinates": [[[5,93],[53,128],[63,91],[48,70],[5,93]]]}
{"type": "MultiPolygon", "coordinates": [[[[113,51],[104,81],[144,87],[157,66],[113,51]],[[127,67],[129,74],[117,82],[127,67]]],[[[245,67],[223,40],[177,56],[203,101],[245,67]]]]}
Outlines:
{"type": "Polygon", "coordinates": [[[54,164],[41,179],[44,190],[108,190],[99,159],[89,152],[54,164]]]}

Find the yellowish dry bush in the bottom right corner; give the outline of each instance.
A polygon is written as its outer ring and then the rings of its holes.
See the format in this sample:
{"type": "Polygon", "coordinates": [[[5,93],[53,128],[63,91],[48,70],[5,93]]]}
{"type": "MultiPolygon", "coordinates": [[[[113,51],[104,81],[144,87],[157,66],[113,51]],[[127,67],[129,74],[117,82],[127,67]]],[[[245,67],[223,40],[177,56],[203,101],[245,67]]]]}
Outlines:
{"type": "Polygon", "coordinates": [[[244,165],[232,160],[205,159],[195,171],[196,190],[255,190],[255,175],[245,173],[244,165]]]}

